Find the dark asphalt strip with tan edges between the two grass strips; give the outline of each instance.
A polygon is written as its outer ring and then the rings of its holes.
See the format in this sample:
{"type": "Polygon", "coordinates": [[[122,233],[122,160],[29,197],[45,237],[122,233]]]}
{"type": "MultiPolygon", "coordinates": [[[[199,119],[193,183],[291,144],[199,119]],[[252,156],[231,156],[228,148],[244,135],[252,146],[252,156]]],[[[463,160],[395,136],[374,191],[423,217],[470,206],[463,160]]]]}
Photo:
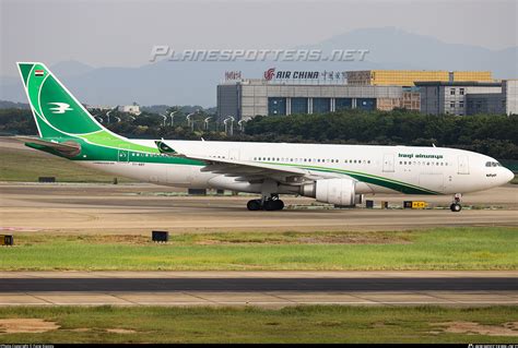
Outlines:
{"type": "Polygon", "coordinates": [[[518,304],[518,272],[3,272],[0,305],[518,304]]]}

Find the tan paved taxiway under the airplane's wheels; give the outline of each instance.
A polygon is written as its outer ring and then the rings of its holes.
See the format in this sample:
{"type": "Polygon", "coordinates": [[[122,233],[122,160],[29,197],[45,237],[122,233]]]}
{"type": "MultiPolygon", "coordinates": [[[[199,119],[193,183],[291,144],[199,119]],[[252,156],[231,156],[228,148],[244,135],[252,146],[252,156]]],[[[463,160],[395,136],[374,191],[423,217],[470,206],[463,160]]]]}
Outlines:
{"type": "MultiPolygon", "coordinates": [[[[0,183],[0,228],[23,232],[149,233],[169,231],[395,230],[434,226],[518,226],[518,185],[467,194],[463,209],[326,209],[314,200],[286,197],[294,208],[248,212],[249,196],[174,196],[152,184],[0,183]]],[[[378,195],[402,204],[425,200],[447,206],[449,196],[378,195]]]]}

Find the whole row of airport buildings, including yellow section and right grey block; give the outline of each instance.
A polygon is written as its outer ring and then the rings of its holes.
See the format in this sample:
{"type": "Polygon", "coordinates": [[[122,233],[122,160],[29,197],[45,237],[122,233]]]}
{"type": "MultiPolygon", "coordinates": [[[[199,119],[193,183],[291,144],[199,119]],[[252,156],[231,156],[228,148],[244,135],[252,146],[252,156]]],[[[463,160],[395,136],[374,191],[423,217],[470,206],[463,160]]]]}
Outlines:
{"type": "Polygon", "coordinates": [[[217,85],[217,116],[325,113],[342,109],[423,113],[517,113],[517,81],[495,82],[488,71],[365,70],[278,71],[262,79],[227,79],[217,85]]]}

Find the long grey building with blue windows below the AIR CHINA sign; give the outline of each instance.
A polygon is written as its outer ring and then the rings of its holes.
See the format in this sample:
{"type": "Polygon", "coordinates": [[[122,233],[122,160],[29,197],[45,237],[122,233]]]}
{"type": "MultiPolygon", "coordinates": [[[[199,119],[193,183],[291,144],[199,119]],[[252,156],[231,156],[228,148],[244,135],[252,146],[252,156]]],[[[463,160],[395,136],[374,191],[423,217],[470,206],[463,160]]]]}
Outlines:
{"type": "MultiPolygon", "coordinates": [[[[419,110],[419,94],[404,93],[404,101],[419,110]],[[412,100],[413,97],[413,100],[412,100]]],[[[248,120],[257,115],[284,116],[321,113],[341,109],[387,109],[402,107],[400,86],[352,86],[346,84],[267,83],[242,80],[217,86],[220,118],[248,120]]]]}

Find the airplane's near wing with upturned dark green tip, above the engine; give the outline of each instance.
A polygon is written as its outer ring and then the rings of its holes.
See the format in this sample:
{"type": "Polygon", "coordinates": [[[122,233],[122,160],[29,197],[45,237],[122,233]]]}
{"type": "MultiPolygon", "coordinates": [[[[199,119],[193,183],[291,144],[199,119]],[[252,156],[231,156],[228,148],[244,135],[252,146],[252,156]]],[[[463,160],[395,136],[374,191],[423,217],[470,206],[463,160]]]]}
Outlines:
{"type": "Polygon", "coordinates": [[[165,141],[157,141],[156,145],[163,154],[169,156],[181,156],[205,163],[207,165],[201,169],[201,171],[220,173],[225,177],[235,177],[237,181],[259,182],[266,178],[270,178],[282,183],[299,185],[307,181],[337,177],[334,173],[316,173],[307,169],[290,167],[282,164],[264,164],[252,160],[217,158],[193,154],[189,153],[188,149],[173,149],[173,147],[165,141]]]}

